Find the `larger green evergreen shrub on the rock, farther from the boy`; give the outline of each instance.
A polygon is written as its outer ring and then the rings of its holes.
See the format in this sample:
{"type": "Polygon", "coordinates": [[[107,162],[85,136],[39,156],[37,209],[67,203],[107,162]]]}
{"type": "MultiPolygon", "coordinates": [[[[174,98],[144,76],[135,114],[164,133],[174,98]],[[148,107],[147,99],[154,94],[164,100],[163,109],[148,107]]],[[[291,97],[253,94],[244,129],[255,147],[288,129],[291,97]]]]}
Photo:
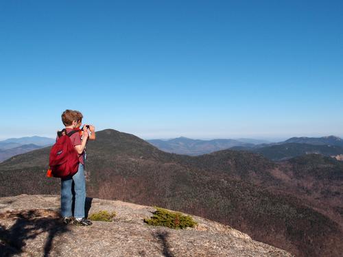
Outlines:
{"type": "Polygon", "coordinates": [[[180,212],[170,212],[163,208],[154,206],[156,209],[153,212],[151,219],[143,219],[149,225],[163,225],[168,228],[183,229],[187,227],[193,228],[197,222],[189,215],[182,215],[180,212]]]}

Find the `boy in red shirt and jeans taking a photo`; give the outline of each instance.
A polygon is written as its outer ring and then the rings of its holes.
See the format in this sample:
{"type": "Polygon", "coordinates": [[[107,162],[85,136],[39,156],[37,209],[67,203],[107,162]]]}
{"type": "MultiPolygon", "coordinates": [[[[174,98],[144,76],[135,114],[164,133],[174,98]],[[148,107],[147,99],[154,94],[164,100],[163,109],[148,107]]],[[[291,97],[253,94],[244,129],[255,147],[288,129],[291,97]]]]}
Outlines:
{"type": "MultiPolygon", "coordinates": [[[[73,110],[65,110],[62,113],[62,123],[67,133],[75,130],[78,126],[78,114],[73,110]]],[[[69,178],[61,179],[61,215],[63,222],[68,224],[73,221],[74,225],[92,225],[92,222],[84,217],[84,204],[86,201],[86,181],[84,179],[84,148],[88,139],[88,130],[84,126],[82,140],[79,133],[70,136],[71,143],[79,154],[78,172],[69,178]],[[74,218],[72,217],[72,184],[75,190],[74,218]]]]}

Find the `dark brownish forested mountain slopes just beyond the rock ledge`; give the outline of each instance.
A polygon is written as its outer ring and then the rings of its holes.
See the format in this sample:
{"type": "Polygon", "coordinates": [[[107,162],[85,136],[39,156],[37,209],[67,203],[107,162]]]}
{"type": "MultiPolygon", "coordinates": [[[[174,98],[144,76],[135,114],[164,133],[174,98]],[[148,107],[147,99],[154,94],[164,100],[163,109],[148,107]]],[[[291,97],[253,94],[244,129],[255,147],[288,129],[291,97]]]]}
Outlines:
{"type": "MultiPolygon", "coordinates": [[[[0,197],[60,193],[49,149],[0,163],[0,197]]],[[[343,162],[307,154],[281,162],[225,149],[170,154],[116,130],[87,145],[87,193],[219,221],[296,256],[343,252],[343,162]]]]}

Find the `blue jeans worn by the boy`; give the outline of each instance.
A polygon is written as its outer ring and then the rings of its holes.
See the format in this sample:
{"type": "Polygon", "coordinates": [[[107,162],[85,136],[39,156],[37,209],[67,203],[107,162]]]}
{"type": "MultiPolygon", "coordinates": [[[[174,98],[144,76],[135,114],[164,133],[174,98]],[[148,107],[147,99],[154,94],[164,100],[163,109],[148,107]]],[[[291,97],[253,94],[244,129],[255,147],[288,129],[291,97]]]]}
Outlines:
{"type": "Polygon", "coordinates": [[[72,186],[74,182],[75,207],[74,217],[84,217],[84,204],[86,201],[86,181],[84,179],[84,165],[79,164],[78,172],[72,177],[61,180],[61,215],[71,217],[73,215],[71,206],[73,204],[72,186]]]}

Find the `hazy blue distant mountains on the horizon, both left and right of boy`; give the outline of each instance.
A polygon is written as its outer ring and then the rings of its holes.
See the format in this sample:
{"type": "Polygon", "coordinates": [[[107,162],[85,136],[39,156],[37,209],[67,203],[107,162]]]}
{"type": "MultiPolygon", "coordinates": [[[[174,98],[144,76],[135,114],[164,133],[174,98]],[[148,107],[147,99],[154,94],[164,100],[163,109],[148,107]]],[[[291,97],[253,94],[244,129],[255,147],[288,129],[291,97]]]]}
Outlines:
{"type": "MultiPolygon", "coordinates": [[[[17,154],[52,145],[54,142],[54,138],[40,136],[8,138],[0,141],[0,162],[17,154]]],[[[305,154],[322,154],[335,157],[338,160],[343,158],[343,140],[337,136],[324,136],[322,138],[294,137],[279,143],[268,143],[266,140],[253,138],[200,140],[183,136],[168,140],[151,139],[147,140],[147,142],[162,151],[187,154],[189,156],[232,149],[252,151],[274,161],[287,160],[305,154]]]]}

